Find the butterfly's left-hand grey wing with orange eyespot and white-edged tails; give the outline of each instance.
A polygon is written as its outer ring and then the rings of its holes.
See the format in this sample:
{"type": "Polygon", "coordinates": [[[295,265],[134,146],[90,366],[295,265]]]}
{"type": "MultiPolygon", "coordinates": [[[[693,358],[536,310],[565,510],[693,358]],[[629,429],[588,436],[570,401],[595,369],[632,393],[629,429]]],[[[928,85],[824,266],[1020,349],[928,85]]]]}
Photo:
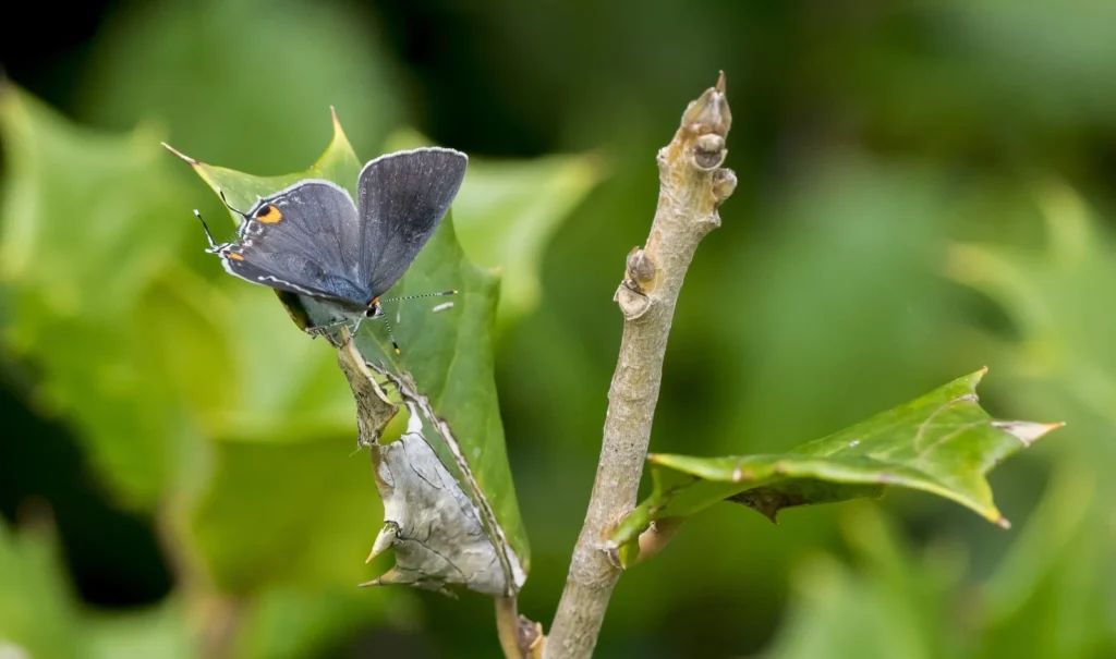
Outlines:
{"type": "Polygon", "coordinates": [[[344,188],[301,181],[244,213],[239,244],[220,251],[224,269],[252,283],[356,304],[372,297],[357,279],[359,225],[344,188]]]}

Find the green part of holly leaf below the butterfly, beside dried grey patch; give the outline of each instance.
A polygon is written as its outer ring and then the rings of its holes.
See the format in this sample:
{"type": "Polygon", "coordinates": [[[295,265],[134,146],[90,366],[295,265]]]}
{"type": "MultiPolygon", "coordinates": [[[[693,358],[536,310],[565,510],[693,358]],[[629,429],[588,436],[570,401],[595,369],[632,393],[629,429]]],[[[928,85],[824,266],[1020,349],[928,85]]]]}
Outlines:
{"type": "MultiPolygon", "coordinates": [[[[416,385],[411,403],[427,417],[424,434],[442,464],[482,513],[490,540],[509,555],[509,575],[528,570],[527,535],[519,516],[493,375],[492,332],[499,280],[465,258],[452,217],[419,254],[391,294],[407,295],[455,288],[453,307],[441,312],[400,307],[392,313],[402,353],[394,355],[381,331],[362,331],[356,346],[384,372],[407,374],[416,385]],[[504,545],[504,539],[508,546],[504,545]],[[510,551],[509,551],[510,549],[510,551]],[[514,568],[519,563],[519,569],[514,568]]],[[[328,318],[328,317],[323,317],[328,318]]],[[[320,321],[319,321],[320,322],[320,321]]],[[[372,329],[372,328],[369,328],[372,329]]],[[[376,328],[378,329],[378,328],[376,328]]],[[[521,582],[520,578],[509,583],[521,582]]]]}

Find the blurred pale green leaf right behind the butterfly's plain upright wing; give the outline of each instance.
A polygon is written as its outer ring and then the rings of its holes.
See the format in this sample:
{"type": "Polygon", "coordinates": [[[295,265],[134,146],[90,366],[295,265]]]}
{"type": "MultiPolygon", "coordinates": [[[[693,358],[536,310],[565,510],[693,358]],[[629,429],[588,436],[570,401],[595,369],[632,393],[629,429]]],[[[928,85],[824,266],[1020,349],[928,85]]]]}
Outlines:
{"type": "MultiPolygon", "coordinates": [[[[388,137],[386,148],[431,145],[425,136],[403,129],[388,137]]],[[[538,306],[547,244],[603,177],[602,158],[593,153],[530,161],[470,158],[453,203],[454,229],[472,261],[499,268],[503,275],[497,312],[501,324],[538,306]]]]}

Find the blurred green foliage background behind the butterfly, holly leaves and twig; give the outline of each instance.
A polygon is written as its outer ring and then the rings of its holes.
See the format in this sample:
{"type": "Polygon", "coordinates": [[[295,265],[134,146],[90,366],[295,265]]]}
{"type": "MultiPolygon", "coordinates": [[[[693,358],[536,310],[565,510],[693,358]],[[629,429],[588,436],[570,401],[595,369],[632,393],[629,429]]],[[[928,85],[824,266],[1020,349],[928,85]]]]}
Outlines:
{"type": "Polygon", "coordinates": [[[190,210],[220,205],[158,146],[300,171],[330,106],[362,158],[417,132],[488,184],[454,212],[504,266],[520,610],[549,624],[654,155],[719,69],[740,184],[689,273],[652,449],[776,452],[984,365],[994,416],[1068,427],[991,475],[1010,531],[923,494],[778,526],[715,506],[624,576],[598,656],[1116,657],[1116,3],[0,16],[4,658],[498,655],[487,598],[354,588],[387,563],[363,563],[382,511],[344,378],[202,252],[190,210]]]}

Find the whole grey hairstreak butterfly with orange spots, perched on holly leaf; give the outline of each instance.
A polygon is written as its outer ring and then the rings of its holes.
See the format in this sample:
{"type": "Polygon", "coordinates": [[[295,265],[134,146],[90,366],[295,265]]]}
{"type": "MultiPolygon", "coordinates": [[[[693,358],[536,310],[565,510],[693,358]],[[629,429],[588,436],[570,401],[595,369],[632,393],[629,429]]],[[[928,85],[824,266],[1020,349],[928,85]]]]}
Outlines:
{"type": "MultiPolygon", "coordinates": [[[[450,210],[469,157],[441,147],[386,154],[357,177],[357,200],[336,183],[307,178],[260,198],[243,217],[237,241],[218,243],[202,221],[210,253],[225,271],[254,284],[328,301],[355,318],[387,326],[383,295],[406,272],[450,210]]],[[[224,198],[224,195],[221,195],[224,198]]],[[[228,205],[228,202],[225,202],[228,205]]],[[[194,211],[198,219],[201,214],[194,211]]],[[[442,291],[430,295],[453,294],[442,291]]],[[[315,328],[324,333],[325,328],[315,328]]]]}

